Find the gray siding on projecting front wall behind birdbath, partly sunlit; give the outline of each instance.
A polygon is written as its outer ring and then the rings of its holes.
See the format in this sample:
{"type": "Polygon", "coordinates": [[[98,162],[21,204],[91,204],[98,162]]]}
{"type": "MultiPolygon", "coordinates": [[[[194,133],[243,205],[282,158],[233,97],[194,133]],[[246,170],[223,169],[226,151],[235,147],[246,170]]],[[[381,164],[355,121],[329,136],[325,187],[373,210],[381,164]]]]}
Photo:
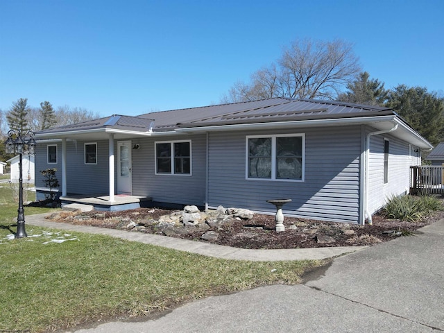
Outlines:
{"type": "Polygon", "coordinates": [[[210,133],[208,205],[275,212],[266,200],[291,198],[284,214],[325,221],[359,220],[360,126],[210,133]],[[305,181],[246,179],[246,135],[305,133],[305,181]]]}

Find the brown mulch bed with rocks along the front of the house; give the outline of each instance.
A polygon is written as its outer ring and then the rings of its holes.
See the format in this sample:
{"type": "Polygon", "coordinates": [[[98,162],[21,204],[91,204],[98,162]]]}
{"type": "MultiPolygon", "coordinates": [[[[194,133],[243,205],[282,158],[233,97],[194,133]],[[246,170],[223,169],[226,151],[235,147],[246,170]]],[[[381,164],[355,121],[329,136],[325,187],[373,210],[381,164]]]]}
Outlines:
{"type": "MultiPolygon", "coordinates": [[[[122,212],[83,212],[85,219],[75,217],[72,212],[53,214],[50,219],[80,225],[94,225],[102,228],[128,230],[128,223],[159,219],[160,216],[171,214],[173,210],[160,208],[139,208],[122,212]]],[[[318,248],[328,246],[366,246],[389,241],[397,237],[411,236],[415,230],[429,223],[444,218],[444,212],[437,212],[419,222],[406,222],[387,219],[383,214],[373,216],[373,225],[357,225],[349,223],[331,223],[309,219],[285,217],[284,232],[275,231],[274,216],[255,214],[253,219],[232,219],[221,227],[181,228],[180,232],[168,232],[169,237],[204,241],[200,237],[208,231],[217,232],[213,244],[236,248],[278,249],[278,248],[318,248]],[[323,243],[323,239],[332,243],[323,243]]],[[[142,223],[144,224],[144,223],[142,223]]],[[[149,223],[148,223],[149,224],[149,223]]],[[[131,232],[147,232],[167,234],[158,225],[146,225],[134,228],[131,232]],[[136,231],[137,230],[137,231],[136,231]]]]}

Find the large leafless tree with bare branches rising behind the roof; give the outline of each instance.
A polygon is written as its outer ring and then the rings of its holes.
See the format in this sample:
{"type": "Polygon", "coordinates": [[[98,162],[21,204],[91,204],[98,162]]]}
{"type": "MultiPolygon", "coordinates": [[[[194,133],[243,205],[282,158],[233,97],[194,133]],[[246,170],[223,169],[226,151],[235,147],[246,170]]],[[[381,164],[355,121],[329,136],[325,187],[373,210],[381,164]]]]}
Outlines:
{"type": "Polygon", "coordinates": [[[296,40],[281,58],[256,71],[250,83],[237,82],[223,102],[253,101],[271,97],[334,99],[361,70],[352,44],[296,40]]]}

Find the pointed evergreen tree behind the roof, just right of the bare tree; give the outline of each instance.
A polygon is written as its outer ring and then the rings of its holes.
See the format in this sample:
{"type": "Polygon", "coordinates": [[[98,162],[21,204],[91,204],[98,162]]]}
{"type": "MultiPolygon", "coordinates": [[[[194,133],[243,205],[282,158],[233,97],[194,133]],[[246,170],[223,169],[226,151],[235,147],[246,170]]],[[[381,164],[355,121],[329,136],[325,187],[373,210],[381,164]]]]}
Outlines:
{"type": "Polygon", "coordinates": [[[370,79],[367,71],[360,73],[358,78],[347,85],[348,92],[338,95],[336,101],[383,106],[388,99],[388,90],[384,82],[370,79]]]}

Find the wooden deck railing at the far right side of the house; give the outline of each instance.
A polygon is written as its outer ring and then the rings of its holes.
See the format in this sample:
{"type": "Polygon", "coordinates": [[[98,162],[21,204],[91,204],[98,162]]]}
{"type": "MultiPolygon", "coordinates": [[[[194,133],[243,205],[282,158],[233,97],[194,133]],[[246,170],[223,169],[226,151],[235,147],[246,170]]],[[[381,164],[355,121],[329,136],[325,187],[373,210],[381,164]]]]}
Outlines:
{"type": "Polygon", "coordinates": [[[443,172],[442,166],[410,167],[410,194],[444,194],[443,172]]]}

